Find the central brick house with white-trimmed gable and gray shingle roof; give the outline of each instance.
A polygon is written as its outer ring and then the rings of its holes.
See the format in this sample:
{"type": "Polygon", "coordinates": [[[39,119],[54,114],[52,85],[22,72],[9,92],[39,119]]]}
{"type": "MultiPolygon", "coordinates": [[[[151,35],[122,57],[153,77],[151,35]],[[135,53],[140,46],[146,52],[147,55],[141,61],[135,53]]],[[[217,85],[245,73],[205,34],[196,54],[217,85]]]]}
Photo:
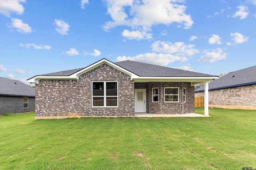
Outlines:
{"type": "Polygon", "coordinates": [[[28,82],[36,83],[36,119],[50,119],[194,113],[193,85],[215,78],[135,61],[102,59],[85,68],[37,75],[28,82]]]}

